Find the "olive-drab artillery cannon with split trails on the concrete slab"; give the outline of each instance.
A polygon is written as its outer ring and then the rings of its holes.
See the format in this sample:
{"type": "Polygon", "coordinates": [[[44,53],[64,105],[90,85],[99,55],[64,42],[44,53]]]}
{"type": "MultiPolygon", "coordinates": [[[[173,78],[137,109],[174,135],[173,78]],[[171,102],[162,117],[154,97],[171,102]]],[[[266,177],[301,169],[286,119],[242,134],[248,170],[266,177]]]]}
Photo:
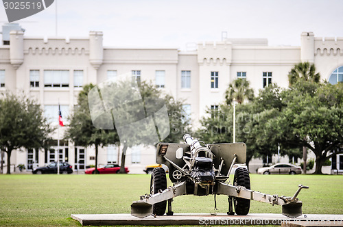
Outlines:
{"type": "Polygon", "coordinates": [[[173,186],[167,187],[163,168],[154,168],[150,194],[141,196],[140,200],[131,204],[131,215],[164,215],[167,207],[167,215],[173,215],[171,202],[174,197],[209,194],[228,196],[228,215],[247,215],[250,200],[281,205],[282,213],[287,217],[302,215],[303,202],[296,197],[301,189],[309,188],[307,186],[298,185],[292,197],[253,191],[250,189],[249,172],[244,167],[235,170],[233,184],[230,184],[228,179],[233,165],[246,163],[246,144],[204,144],[189,134],[184,135],[183,139],[186,144],[157,144],[156,163],[167,165],[173,186]]]}

